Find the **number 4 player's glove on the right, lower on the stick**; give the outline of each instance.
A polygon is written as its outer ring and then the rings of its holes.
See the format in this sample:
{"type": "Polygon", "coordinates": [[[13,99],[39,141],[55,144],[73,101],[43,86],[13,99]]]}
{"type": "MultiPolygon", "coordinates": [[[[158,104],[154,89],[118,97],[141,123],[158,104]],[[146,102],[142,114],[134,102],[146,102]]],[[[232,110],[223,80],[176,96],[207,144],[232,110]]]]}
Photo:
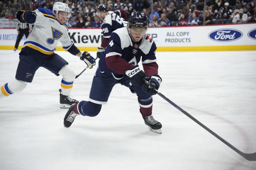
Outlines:
{"type": "Polygon", "coordinates": [[[147,78],[146,80],[149,81],[149,85],[144,84],[141,87],[142,90],[145,91],[146,93],[150,94],[150,95],[157,94],[156,91],[153,90],[153,88],[158,90],[158,88],[160,87],[160,84],[162,82],[162,78],[159,75],[154,74],[152,76],[149,76],[149,78],[147,78]]]}

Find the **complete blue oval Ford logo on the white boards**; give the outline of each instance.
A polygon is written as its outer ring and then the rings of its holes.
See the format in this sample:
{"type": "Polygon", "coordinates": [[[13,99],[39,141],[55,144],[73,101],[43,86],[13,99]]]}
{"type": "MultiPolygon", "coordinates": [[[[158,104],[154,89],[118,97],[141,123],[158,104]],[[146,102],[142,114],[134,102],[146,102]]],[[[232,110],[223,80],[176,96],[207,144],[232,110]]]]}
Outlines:
{"type": "Polygon", "coordinates": [[[218,42],[228,42],[240,39],[243,36],[241,31],[236,29],[217,29],[209,33],[209,39],[218,42]]]}

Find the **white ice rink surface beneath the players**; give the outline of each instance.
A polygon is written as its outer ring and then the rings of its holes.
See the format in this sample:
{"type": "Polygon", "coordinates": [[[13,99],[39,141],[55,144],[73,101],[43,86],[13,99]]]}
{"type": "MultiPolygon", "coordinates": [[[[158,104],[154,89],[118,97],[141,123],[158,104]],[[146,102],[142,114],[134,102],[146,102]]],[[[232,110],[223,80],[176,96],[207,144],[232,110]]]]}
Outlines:
{"type": "MultiPolygon", "coordinates": [[[[0,86],[15,78],[19,55],[0,51],[0,86]]],[[[85,63],[57,51],[79,74],[85,63]]],[[[157,52],[159,92],[245,153],[256,152],[255,51],[157,52]]],[[[91,52],[96,57],[96,52],[91,52]]],[[[97,60],[98,61],[98,60],[97,60]]],[[[96,70],[75,79],[71,95],[87,100],[96,70]]],[[[0,102],[0,169],[255,170],[250,162],[160,96],[147,129],[135,94],[117,84],[96,117],[64,128],[61,77],[39,68],[32,83],[0,102]]]]}

